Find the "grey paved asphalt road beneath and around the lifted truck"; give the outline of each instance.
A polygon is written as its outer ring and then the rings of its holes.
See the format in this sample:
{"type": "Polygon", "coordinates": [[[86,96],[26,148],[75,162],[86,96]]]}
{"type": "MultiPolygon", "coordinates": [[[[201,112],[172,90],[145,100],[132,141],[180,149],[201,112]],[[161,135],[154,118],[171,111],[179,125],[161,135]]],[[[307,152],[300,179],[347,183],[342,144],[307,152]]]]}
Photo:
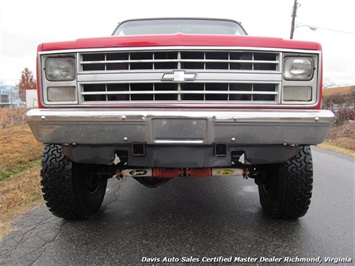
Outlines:
{"type": "Polygon", "coordinates": [[[251,179],[174,179],[156,189],[133,179],[110,180],[102,210],[87,221],[66,222],[43,206],[19,218],[18,231],[0,242],[0,265],[167,265],[165,257],[179,260],[169,265],[193,259],[193,265],[355,259],[355,161],[312,149],[312,205],[299,220],[265,217],[251,179]]]}

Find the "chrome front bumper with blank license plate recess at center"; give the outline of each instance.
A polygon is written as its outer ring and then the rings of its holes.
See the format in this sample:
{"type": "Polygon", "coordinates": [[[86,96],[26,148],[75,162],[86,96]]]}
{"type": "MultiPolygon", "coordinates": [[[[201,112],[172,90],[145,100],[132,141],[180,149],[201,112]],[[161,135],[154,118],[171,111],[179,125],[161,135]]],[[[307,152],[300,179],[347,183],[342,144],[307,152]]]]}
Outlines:
{"type": "Polygon", "coordinates": [[[33,109],[27,121],[42,143],[311,145],[326,138],[334,114],[326,110],[33,109]]]}

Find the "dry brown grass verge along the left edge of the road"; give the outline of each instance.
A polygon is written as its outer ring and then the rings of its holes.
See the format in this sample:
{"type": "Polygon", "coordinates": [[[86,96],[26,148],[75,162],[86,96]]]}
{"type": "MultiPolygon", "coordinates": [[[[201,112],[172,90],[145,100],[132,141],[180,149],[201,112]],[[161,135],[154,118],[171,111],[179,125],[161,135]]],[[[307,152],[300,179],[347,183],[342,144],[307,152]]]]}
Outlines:
{"type": "Polygon", "coordinates": [[[42,198],[39,159],[43,145],[25,123],[26,109],[0,109],[0,237],[11,221],[42,198]]]}

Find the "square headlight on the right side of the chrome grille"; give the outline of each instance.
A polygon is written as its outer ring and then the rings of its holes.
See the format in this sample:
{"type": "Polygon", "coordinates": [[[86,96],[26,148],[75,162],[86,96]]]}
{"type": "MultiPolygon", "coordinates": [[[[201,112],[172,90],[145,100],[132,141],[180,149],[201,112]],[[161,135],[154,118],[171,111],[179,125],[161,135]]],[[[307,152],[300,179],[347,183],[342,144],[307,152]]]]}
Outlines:
{"type": "Polygon", "coordinates": [[[286,57],[283,77],[286,80],[311,80],[314,62],[310,57],[286,57]]]}

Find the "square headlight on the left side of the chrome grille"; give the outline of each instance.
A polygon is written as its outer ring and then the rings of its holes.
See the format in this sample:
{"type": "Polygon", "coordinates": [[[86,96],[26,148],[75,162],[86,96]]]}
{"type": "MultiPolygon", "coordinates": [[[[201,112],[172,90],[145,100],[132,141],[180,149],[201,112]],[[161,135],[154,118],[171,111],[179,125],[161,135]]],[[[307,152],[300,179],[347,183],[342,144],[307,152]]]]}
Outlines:
{"type": "Polygon", "coordinates": [[[75,79],[73,57],[51,57],[46,60],[46,77],[49,81],[71,81],[75,79]]]}

